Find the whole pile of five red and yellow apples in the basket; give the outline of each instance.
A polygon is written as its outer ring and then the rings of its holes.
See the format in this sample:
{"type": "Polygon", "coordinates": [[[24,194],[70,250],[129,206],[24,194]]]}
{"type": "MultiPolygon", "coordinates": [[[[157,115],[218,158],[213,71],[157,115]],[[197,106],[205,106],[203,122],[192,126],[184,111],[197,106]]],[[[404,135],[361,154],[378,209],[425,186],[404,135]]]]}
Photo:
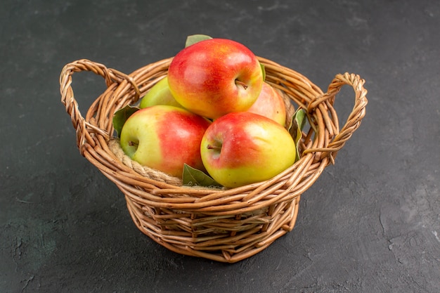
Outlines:
{"type": "Polygon", "coordinates": [[[295,162],[283,98],[243,44],[206,38],[176,54],[124,122],[119,143],[144,166],[185,165],[226,188],[268,180],[295,162]]]}

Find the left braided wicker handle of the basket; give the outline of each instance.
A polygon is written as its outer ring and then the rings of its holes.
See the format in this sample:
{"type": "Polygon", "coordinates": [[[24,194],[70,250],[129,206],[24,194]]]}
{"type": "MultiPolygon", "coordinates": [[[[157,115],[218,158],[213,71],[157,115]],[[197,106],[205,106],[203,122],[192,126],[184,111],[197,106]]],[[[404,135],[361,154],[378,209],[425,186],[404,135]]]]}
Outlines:
{"type": "Polygon", "coordinates": [[[109,137],[109,134],[107,131],[100,129],[98,126],[86,122],[86,119],[84,119],[84,117],[81,115],[81,112],[79,112],[78,103],[77,100],[75,100],[71,84],[72,74],[82,71],[90,71],[97,75],[101,75],[101,77],[105,79],[105,84],[107,87],[110,87],[115,83],[119,84],[126,80],[133,86],[138,97],[140,96],[140,91],[132,77],[117,70],[107,68],[105,65],[100,63],[82,59],[68,63],[63,67],[63,70],[60,74],[61,103],[65,105],[66,112],[72,119],[72,124],[77,134],[77,146],[80,152],[83,154],[82,145],[84,145],[85,141],[89,141],[92,145],[94,144],[90,136],[91,133],[98,133],[107,138],[109,137]]]}

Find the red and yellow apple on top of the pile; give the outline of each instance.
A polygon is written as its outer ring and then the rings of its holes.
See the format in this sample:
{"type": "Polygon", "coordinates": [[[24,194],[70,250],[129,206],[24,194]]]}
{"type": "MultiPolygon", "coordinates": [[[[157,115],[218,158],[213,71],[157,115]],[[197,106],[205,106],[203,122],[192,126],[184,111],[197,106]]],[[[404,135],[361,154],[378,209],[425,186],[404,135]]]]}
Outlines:
{"type": "Polygon", "coordinates": [[[249,109],[263,86],[263,71],[249,48],[230,39],[207,39],[183,48],[168,69],[179,104],[216,119],[249,109]]]}

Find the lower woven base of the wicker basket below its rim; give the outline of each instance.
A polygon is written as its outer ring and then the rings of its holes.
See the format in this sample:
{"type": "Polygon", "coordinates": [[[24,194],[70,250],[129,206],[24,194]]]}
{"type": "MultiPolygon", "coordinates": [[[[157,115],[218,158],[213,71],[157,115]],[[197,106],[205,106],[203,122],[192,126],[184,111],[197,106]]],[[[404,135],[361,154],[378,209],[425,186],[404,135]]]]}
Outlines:
{"type": "Polygon", "coordinates": [[[300,197],[279,203],[278,211],[280,206],[283,211],[275,216],[269,216],[267,210],[204,217],[174,211],[170,216],[169,211],[158,213],[127,196],[126,200],[138,229],[159,245],[178,254],[235,263],[261,252],[294,228],[300,197]]]}

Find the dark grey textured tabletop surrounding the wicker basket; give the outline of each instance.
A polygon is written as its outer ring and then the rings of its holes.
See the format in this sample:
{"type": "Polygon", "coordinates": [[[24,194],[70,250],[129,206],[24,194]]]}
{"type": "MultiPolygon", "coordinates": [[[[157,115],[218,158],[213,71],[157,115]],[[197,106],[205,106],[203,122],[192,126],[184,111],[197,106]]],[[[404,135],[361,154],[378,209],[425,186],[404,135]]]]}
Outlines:
{"type": "MultiPolygon", "coordinates": [[[[2,1],[0,292],[439,292],[438,1],[2,1]],[[319,4],[318,4],[319,3],[319,4]],[[130,73],[188,34],[235,39],[325,90],[365,79],[367,115],[304,193],[297,224],[235,264],[143,235],[79,155],[58,78],[88,58],[130,73]]],[[[85,111],[105,89],[74,77],[85,111]]],[[[353,105],[343,89],[344,119],[353,105]]]]}

